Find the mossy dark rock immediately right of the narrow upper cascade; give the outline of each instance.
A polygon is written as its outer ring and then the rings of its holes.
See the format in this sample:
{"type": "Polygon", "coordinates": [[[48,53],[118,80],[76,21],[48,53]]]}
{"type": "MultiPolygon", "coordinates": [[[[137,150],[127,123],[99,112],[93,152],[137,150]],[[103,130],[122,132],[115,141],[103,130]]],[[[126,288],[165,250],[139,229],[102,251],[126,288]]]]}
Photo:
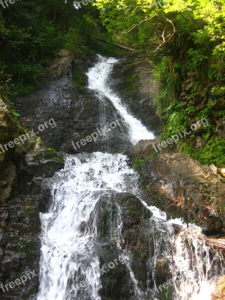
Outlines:
{"type": "MultiPolygon", "coordinates": [[[[142,64],[149,68],[149,64],[142,64]]],[[[120,95],[127,108],[155,135],[160,133],[163,121],[155,113],[152,98],[157,82],[146,70],[134,66],[117,63],[113,66],[108,84],[116,94],[120,95]]]]}

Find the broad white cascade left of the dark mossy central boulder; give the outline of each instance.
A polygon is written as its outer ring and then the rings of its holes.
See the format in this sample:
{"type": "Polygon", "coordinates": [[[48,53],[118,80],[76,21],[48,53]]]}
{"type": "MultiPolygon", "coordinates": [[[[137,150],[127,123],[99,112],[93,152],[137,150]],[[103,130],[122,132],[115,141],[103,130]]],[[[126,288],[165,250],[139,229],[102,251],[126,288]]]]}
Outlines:
{"type": "MultiPolygon", "coordinates": [[[[93,234],[82,228],[100,196],[107,191],[131,191],[126,178],[136,173],[122,154],[93,153],[89,158],[69,155],[65,168],[54,175],[52,204],[40,215],[42,247],[38,300],[79,299],[78,293],[99,300],[99,261],[93,250],[93,234]],[[84,287],[76,286],[81,280],[84,287]],[[72,283],[73,282],[73,285],[72,283]]],[[[88,230],[87,230],[88,231],[88,230]]]]}

